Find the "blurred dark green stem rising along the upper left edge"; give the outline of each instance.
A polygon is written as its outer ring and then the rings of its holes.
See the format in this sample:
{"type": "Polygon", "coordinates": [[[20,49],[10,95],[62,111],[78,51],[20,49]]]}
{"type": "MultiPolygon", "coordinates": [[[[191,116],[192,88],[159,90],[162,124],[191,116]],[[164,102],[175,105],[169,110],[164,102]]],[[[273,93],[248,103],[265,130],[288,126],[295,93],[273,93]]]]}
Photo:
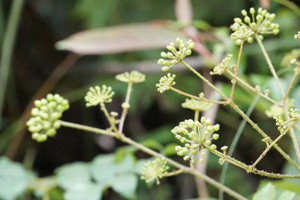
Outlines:
{"type": "Polygon", "coordinates": [[[11,9],[8,16],[7,28],[3,38],[4,41],[2,44],[0,57],[0,125],[3,112],[4,95],[11,64],[11,55],[23,4],[24,0],[12,1],[11,9]]]}

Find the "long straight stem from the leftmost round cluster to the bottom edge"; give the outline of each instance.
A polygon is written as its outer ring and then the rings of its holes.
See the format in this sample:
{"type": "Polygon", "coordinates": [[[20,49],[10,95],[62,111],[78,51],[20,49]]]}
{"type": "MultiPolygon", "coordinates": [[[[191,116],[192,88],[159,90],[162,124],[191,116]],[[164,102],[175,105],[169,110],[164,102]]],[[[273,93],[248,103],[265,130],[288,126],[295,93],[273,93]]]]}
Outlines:
{"type": "MultiPolygon", "coordinates": [[[[109,130],[94,128],[94,127],[90,127],[90,126],[86,126],[86,125],[81,125],[81,124],[76,124],[76,123],[71,123],[71,122],[66,122],[66,121],[61,121],[61,120],[59,120],[59,121],[60,121],[61,125],[65,126],[65,127],[76,128],[76,129],[85,130],[85,131],[94,132],[94,133],[99,133],[99,134],[105,134],[105,135],[109,135],[109,136],[112,136],[112,137],[115,137],[115,138],[118,138],[118,136],[119,136],[118,131],[117,132],[112,132],[112,131],[109,131],[109,130]]],[[[144,145],[142,145],[142,144],[140,144],[136,141],[133,141],[132,139],[130,139],[126,136],[124,136],[122,138],[122,142],[127,143],[127,144],[131,144],[131,145],[135,146],[136,148],[138,148],[139,150],[141,150],[141,151],[143,151],[147,154],[159,157],[159,158],[167,161],[172,166],[174,166],[178,169],[181,169],[182,172],[189,173],[191,175],[199,177],[199,178],[205,180],[206,182],[210,183],[211,185],[215,186],[216,188],[218,188],[220,190],[223,190],[224,192],[226,192],[227,194],[229,194],[230,196],[232,196],[236,199],[242,199],[242,200],[247,199],[246,197],[242,196],[241,194],[237,193],[236,191],[234,191],[234,190],[220,184],[216,180],[210,178],[209,176],[207,176],[205,174],[201,174],[201,173],[199,173],[195,170],[190,169],[187,166],[184,166],[184,165],[168,158],[168,157],[165,157],[164,155],[162,155],[162,154],[160,154],[160,153],[158,153],[158,152],[156,152],[156,151],[154,151],[150,148],[147,148],[144,145]]]]}

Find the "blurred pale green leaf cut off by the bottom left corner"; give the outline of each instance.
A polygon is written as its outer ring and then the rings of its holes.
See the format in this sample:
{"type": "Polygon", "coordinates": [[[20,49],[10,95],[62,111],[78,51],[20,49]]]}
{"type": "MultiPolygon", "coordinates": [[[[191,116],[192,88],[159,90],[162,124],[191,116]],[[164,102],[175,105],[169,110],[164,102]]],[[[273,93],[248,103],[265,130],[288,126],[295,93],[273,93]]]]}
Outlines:
{"type": "Polygon", "coordinates": [[[0,157],[0,198],[15,199],[34,179],[34,174],[21,164],[0,157]]]}

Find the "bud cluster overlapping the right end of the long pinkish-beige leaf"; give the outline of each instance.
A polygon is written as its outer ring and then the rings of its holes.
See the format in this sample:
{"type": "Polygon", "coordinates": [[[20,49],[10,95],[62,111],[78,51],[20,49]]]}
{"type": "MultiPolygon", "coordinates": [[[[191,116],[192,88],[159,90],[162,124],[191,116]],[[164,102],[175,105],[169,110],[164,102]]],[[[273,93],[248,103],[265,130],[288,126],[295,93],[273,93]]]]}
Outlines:
{"type": "Polygon", "coordinates": [[[158,64],[166,65],[161,67],[162,71],[168,71],[172,66],[177,64],[185,56],[190,55],[191,49],[195,46],[194,42],[190,39],[187,41],[186,45],[184,45],[183,40],[178,37],[176,38],[176,42],[177,45],[175,45],[173,42],[170,42],[169,45],[166,46],[166,48],[169,50],[168,52],[160,53],[161,57],[169,58],[158,59],[158,64]],[[178,46],[178,50],[176,49],[176,46],[178,46]]]}

